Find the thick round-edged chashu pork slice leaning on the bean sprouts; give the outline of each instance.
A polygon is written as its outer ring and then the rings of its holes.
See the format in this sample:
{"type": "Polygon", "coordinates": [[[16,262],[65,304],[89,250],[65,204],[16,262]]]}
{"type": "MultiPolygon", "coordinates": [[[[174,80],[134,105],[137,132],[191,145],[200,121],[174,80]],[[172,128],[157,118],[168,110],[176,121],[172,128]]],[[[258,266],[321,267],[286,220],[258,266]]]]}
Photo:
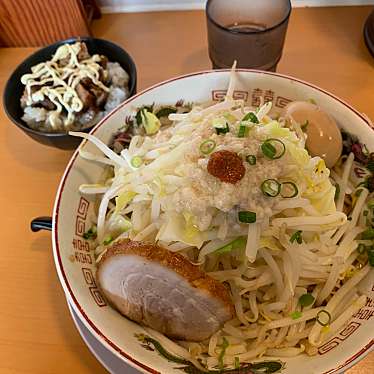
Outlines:
{"type": "Polygon", "coordinates": [[[96,277],[123,315],[175,339],[207,339],[233,316],[223,284],[154,244],[114,243],[98,263],[96,277]]]}

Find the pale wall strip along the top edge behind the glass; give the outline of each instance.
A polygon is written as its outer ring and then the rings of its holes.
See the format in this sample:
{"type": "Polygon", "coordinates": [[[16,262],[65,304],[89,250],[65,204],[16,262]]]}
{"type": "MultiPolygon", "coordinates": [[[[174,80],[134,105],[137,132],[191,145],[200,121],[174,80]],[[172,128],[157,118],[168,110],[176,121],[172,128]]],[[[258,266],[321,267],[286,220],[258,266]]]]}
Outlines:
{"type": "MultiPolygon", "coordinates": [[[[374,0],[291,0],[297,6],[374,5],[374,0]]],[[[203,9],[205,0],[98,0],[104,13],[203,9]]]]}

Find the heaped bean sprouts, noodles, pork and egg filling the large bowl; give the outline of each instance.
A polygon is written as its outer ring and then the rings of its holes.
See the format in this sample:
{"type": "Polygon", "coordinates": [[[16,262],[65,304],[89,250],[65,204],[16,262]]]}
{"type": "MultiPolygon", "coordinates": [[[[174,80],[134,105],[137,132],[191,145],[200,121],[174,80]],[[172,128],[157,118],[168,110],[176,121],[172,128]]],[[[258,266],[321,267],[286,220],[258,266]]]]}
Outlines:
{"type": "Polygon", "coordinates": [[[164,110],[164,124],[138,109],[119,149],[71,133],[104,166],[80,186],[97,195],[85,237],[101,290],[202,371],[315,355],[373,277],[374,154],[315,103],[234,100],[235,79],[222,102],[164,110]]]}

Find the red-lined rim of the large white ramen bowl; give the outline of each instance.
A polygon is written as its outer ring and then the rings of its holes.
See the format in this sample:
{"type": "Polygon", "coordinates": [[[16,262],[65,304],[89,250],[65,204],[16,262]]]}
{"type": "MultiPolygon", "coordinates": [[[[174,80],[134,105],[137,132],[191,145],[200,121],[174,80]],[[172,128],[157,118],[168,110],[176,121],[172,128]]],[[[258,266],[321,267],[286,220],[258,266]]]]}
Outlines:
{"type": "MultiPolygon", "coordinates": [[[[135,94],[134,96],[129,97],[127,100],[125,100],[123,103],[121,103],[117,108],[115,108],[112,112],[110,112],[107,116],[105,116],[99,123],[95,125],[95,127],[91,130],[90,134],[94,134],[97,129],[99,129],[101,126],[103,126],[107,120],[114,115],[116,112],[118,112],[120,109],[122,109],[123,106],[127,105],[131,101],[135,100],[137,97],[145,94],[148,91],[151,91],[157,87],[166,85],[168,83],[184,79],[184,78],[189,78],[193,76],[198,76],[198,75],[207,75],[207,74],[212,74],[212,73],[228,73],[230,72],[231,69],[218,69],[218,70],[202,70],[194,73],[188,73],[180,76],[176,76],[167,80],[164,80],[162,82],[156,83],[141,92],[135,94]]],[[[294,78],[289,75],[285,74],[279,74],[279,73],[274,73],[274,72],[268,72],[268,71],[262,71],[262,70],[255,70],[255,69],[244,69],[244,68],[237,68],[235,71],[237,72],[249,72],[249,73],[255,73],[255,74],[262,74],[262,75],[270,75],[270,76],[275,76],[279,77],[282,79],[287,79],[291,80],[297,83],[301,83],[302,85],[306,85],[308,87],[311,87],[313,89],[316,89],[317,91],[320,91],[331,98],[335,99],[336,101],[340,102],[343,104],[347,109],[355,113],[358,117],[360,117],[371,129],[373,127],[370,124],[370,121],[365,115],[360,113],[357,109],[353,108],[350,104],[345,102],[344,100],[340,99],[336,95],[330,93],[329,91],[326,91],[312,83],[306,82],[304,80],[294,78]]],[[[74,292],[72,291],[72,288],[68,282],[66,273],[64,271],[64,266],[62,263],[62,258],[61,258],[61,252],[60,252],[60,247],[59,247],[59,239],[58,239],[58,223],[59,223],[59,209],[60,209],[60,203],[61,203],[61,195],[65,186],[65,182],[69,176],[69,173],[72,169],[72,166],[77,159],[79,155],[79,150],[82,148],[82,146],[87,142],[87,140],[83,140],[79,147],[75,150],[74,154],[72,155],[68,165],[65,168],[64,174],[61,177],[61,181],[56,193],[56,198],[55,198],[55,204],[54,204],[54,209],[53,209],[53,215],[52,215],[52,244],[53,244],[53,257],[54,257],[54,262],[57,270],[57,274],[61,283],[61,286],[65,292],[65,296],[70,303],[70,305],[74,308],[74,310],[77,312],[78,317],[80,320],[85,324],[85,326],[88,328],[88,330],[95,336],[95,338],[102,344],[105,345],[108,349],[110,349],[113,353],[119,355],[121,359],[123,359],[125,362],[130,364],[136,369],[140,369],[143,372],[146,373],[153,373],[153,374],[160,374],[159,371],[139,362],[137,359],[134,357],[130,356],[128,353],[124,352],[122,348],[120,348],[116,343],[112,342],[106,335],[103,333],[96,325],[95,323],[87,316],[84,308],[80,305],[78,302],[77,298],[74,295],[74,292]]],[[[364,347],[362,347],[358,352],[354,353],[351,357],[349,357],[346,361],[341,363],[340,365],[325,371],[321,374],[337,374],[341,373],[342,370],[347,370],[351,366],[353,366],[355,363],[363,359],[371,350],[374,348],[374,338],[371,339],[369,343],[367,343],[364,347]]]]}

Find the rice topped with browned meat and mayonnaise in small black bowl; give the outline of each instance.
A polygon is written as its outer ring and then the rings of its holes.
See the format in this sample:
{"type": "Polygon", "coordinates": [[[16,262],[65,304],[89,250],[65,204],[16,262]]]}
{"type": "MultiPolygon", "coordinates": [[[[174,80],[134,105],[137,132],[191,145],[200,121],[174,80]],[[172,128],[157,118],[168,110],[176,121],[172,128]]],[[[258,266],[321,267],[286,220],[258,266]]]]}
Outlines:
{"type": "Polygon", "coordinates": [[[21,77],[22,120],[42,132],[93,126],[128,96],[129,75],[118,62],[90,55],[84,42],[60,46],[51,60],[21,77]]]}

